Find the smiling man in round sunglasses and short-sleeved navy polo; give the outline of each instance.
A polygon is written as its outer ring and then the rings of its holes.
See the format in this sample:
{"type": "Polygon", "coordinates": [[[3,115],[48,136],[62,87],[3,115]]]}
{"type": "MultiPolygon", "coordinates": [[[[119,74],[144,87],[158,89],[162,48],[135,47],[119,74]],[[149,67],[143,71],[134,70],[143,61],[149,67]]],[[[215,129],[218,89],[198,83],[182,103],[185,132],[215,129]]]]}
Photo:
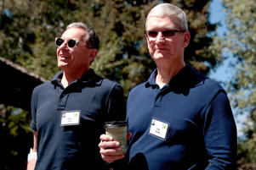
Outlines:
{"type": "Polygon", "coordinates": [[[89,68],[100,40],[87,25],[68,25],[55,44],[62,70],[33,90],[34,146],[27,169],[108,169],[98,144],[106,121],[125,119],[122,87],[89,68]]]}

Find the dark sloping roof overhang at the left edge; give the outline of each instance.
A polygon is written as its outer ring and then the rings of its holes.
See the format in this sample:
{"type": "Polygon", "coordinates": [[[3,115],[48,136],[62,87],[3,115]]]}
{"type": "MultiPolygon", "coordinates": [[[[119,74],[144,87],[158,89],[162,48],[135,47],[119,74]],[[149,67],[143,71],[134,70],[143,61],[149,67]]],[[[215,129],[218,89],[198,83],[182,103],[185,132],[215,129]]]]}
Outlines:
{"type": "Polygon", "coordinates": [[[0,57],[0,103],[30,111],[32,90],[46,82],[6,58],[0,57]]]}

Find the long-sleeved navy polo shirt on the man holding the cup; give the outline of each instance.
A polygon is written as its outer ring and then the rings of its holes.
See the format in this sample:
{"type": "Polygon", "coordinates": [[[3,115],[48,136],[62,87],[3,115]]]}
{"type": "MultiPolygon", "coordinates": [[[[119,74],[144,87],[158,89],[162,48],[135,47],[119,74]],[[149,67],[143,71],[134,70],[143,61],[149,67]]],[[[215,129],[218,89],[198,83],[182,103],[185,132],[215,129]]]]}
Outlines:
{"type": "Polygon", "coordinates": [[[233,169],[236,124],[225,90],[189,65],[162,89],[156,74],[128,96],[130,169],[233,169]]]}

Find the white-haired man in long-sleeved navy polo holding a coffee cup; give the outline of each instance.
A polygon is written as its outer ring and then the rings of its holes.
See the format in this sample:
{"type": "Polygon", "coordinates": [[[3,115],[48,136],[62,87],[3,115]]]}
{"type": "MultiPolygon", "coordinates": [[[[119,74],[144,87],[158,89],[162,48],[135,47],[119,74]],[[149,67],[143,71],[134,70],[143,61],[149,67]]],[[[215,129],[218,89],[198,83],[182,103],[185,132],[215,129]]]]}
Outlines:
{"type": "MultiPolygon", "coordinates": [[[[157,5],[147,16],[145,35],[157,68],[128,96],[128,169],[234,170],[230,102],[219,83],[185,63],[191,38],[185,13],[169,3],[157,5]]],[[[120,147],[110,136],[100,140],[106,162],[124,157],[113,155],[120,147]]]]}

